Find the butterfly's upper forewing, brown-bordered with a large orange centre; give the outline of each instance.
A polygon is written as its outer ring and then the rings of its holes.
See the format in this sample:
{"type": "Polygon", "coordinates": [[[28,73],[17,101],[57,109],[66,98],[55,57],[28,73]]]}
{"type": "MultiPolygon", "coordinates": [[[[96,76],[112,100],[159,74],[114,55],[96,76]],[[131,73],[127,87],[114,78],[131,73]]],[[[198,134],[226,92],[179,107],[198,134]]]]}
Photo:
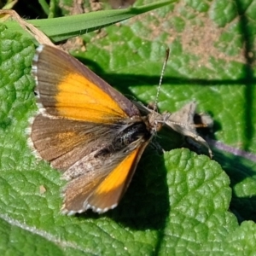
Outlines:
{"type": "Polygon", "coordinates": [[[40,45],[32,72],[46,113],[101,124],[139,115],[125,96],[60,49],[40,45]]]}

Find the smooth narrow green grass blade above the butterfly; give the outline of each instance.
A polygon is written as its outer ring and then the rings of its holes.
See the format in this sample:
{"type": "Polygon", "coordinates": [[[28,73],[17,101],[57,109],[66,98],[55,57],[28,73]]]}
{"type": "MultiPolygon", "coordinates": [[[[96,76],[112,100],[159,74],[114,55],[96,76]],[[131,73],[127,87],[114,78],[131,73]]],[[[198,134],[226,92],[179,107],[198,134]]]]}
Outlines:
{"type": "MultiPolygon", "coordinates": [[[[141,15],[172,2],[173,0],[159,1],[138,8],[104,10],[55,19],[27,20],[27,22],[38,27],[38,29],[44,32],[54,42],[60,42],[68,38],[80,36],[86,32],[97,30],[104,26],[109,26],[122,20],[131,19],[136,15],[141,15]]],[[[6,22],[5,25],[14,32],[20,32],[20,26],[14,21],[6,22]]]]}

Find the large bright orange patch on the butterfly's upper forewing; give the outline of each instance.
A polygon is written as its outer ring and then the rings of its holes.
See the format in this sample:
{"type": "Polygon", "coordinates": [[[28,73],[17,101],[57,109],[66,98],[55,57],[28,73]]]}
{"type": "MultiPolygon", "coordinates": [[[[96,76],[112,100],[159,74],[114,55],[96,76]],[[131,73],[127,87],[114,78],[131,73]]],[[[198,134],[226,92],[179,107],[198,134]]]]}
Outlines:
{"type": "Polygon", "coordinates": [[[63,117],[95,123],[127,118],[117,102],[79,73],[69,73],[57,88],[56,108],[63,117]]]}

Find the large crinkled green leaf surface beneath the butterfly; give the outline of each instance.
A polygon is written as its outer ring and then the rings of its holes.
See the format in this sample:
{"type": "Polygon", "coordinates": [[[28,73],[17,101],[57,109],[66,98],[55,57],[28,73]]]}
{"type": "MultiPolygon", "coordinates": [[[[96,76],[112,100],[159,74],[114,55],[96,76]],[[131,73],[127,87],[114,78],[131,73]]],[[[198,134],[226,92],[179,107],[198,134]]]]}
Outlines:
{"type": "MultiPolygon", "coordinates": [[[[119,206],[102,215],[60,214],[65,182],[26,145],[25,130],[37,110],[30,75],[34,45],[0,26],[2,254],[253,254],[256,5],[238,4],[235,18],[230,13],[221,20],[219,4],[179,1],[88,33],[86,52],[73,51],[125,96],[147,104],[154,102],[170,47],[160,112],[196,100],[198,111],[215,123],[214,160],[184,148],[159,155],[148,147],[119,206]]],[[[177,144],[175,137],[159,133],[156,140],[177,144]]]]}

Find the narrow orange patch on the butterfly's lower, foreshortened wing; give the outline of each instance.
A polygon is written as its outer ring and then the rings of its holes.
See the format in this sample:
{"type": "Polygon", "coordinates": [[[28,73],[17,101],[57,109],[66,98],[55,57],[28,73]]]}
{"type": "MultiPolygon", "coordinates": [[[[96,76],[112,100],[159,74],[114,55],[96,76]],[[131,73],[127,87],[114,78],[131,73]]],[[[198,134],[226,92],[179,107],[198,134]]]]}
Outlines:
{"type": "Polygon", "coordinates": [[[140,148],[138,147],[134,149],[131,154],[128,154],[125,160],[123,160],[98,186],[94,195],[108,194],[108,192],[124,186],[125,180],[128,177],[132,164],[137,158],[139,150],[140,148]]]}

